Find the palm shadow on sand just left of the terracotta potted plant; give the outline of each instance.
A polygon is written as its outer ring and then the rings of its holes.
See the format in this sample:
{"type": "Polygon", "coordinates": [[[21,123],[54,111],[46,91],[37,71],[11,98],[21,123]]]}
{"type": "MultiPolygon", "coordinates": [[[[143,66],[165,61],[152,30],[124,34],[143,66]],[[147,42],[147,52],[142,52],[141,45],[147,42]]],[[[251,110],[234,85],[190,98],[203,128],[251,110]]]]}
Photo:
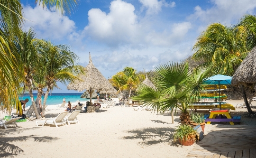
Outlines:
{"type": "Polygon", "coordinates": [[[142,146],[150,146],[154,144],[168,142],[170,145],[174,145],[172,140],[173,133],[175,132],[174,128],[170,127],[157,127],[157,128],[142,128],[134,129],[132,131],[127,131],[133,136],[124,136],[124,139],[135,140],[139,139],[142,142],[139,142],[142,146]]]}

